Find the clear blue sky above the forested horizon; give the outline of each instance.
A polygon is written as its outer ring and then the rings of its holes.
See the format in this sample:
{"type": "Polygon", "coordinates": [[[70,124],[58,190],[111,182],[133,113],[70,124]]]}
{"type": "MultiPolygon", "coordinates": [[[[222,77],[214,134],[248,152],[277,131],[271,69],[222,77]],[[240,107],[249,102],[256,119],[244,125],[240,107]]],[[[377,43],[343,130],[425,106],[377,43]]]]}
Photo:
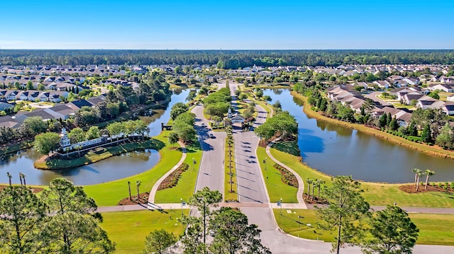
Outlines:
{"type": "Polygon", "coordinates": [[[454,49],[454,1],[1,1],[1,49],[454,49]]]}

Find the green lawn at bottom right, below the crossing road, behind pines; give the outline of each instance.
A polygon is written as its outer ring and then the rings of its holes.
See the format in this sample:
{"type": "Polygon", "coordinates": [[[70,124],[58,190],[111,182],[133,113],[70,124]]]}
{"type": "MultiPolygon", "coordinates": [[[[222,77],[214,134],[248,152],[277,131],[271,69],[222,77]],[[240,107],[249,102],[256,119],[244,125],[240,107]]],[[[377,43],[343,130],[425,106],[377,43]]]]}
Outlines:
{"type": "MultiPolygon", "coordinates": [[[[280,209],[273,209],[273,212],[277,224],[286,233],[306,239],[334,241],[336,231],[316,229],[318,218],[315,210],[283,209],[282,215],[280,209]]],[[[454,246],[454,214],[409,214],[409,217],[419,229],[417,244],[454,246]]]]}

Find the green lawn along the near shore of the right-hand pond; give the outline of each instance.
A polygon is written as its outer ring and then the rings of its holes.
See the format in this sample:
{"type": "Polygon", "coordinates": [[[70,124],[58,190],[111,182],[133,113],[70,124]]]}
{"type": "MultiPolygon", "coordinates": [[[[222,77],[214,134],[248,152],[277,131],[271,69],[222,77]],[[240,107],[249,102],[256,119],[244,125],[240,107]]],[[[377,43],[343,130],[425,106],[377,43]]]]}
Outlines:
{"type": "MultiPolygon", "coordinates": [[[[303,180],[322,179],[326,185],[331,185],[331,177],[304,165],[299,157],[287,154],[277,149],[271,149],[272,156],[296,171],[303,180]]],[[[384,206],[397,202],[402,207],[454,207],[454,195],[445,192],[423,192],[409,194],[399,190],[399,184],[362,183],[362,192],[370,205],[384,206]]],[[[270,190],[269,190],[270,191],[270,190]]],[[[304,188],[307,192],[307,188],[304,188]]],[[[271,196],[271,194],[270,194],[271,196]]]]}

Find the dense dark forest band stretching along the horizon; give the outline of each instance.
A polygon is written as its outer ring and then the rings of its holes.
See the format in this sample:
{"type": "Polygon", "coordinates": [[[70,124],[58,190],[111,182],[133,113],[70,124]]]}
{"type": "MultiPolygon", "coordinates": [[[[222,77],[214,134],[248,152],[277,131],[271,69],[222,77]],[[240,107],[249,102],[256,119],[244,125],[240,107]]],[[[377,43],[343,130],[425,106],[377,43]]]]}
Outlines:
{"type": "Polygon", "coordinates": [[[0,50],[0,64],[258,65],[454,64],[454,50],[0,50]]]}

